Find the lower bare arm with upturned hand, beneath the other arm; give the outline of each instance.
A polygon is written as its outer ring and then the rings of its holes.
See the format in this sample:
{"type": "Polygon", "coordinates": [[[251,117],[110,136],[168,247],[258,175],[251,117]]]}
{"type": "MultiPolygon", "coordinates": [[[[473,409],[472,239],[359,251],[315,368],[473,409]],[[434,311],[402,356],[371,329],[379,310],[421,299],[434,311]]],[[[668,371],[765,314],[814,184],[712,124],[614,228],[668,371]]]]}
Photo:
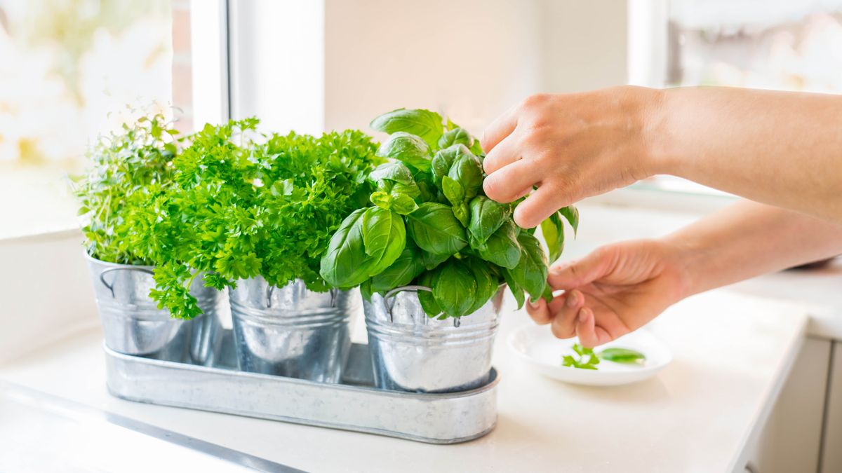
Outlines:
{"type": "Polygon", "coordinates": [[[563,295],[527,310],[556,337],[599,345],[688,295],[842,253],[842,226],[741,202],[668,237],[620,242],[550,272],[563,295]]]}

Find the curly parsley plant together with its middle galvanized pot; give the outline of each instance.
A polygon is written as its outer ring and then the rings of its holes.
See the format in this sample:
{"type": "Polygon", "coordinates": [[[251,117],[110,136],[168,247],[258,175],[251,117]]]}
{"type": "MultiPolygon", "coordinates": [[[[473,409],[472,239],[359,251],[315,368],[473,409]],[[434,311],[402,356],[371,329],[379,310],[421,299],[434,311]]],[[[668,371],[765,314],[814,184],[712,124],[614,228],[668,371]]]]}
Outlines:
{"type": "Polygon", "coordinates": [[[256,125],[207,125],[173,160],[176,184],[137,224],[160,262],[152,296],[193,316],[186,288],[202,274],[229,288],[240,369],[338,382],[359,296],[327,284],[318,264],[381,158],[359,131],[262,136],[256,125]]]}

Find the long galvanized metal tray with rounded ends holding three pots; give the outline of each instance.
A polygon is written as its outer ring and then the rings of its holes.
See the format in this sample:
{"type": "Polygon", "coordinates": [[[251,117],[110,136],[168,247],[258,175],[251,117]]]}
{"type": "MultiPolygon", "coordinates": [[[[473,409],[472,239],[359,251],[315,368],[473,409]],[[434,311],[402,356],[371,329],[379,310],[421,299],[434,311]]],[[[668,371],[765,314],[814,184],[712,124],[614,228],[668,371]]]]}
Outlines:
{"type": "Polygon", "coordinates": [[[339,428],[429,444],[482,437],[497,423],[498,375],[471,391],[424,394],[376,389],[368,345],[354,343],[342,384],[237,370],[226,334],[214,366],[200,366],[105,350],[112,395],[289,423],[339,428]]]}

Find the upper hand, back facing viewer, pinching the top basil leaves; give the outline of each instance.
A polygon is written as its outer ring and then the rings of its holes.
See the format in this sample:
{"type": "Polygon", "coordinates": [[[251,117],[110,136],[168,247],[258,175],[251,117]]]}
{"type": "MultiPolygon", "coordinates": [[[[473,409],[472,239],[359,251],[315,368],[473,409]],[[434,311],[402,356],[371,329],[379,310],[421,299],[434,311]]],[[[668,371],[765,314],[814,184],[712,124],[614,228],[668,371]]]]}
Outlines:
{"type": "Polygon", "coordinates": [[[578,200],[652,176],[647,130],[660,91],[619,87],[539,94],[501,115],[482,135],[489,198],[512,202],[524,228],[578,200]]]}

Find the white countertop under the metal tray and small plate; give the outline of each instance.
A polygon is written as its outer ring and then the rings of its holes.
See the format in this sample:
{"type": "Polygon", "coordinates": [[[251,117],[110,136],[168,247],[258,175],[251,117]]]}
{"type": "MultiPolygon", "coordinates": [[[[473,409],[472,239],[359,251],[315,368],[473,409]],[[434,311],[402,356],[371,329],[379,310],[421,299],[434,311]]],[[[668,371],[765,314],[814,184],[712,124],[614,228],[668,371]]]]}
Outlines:
{"type": "Polygon", "coordinates": [[[545,379],[516,359],[505,339],[530,321],[510,309],[494,357],[498,426],[466,444],[122,401],[105,389],[98,332],[0,365],[0,379],[303,470],[709,473],[739,461],[807,325],[806,313],[790,304],[727,291],[695,296],[651,327],[674,350],[672,364],[636,385],[589,388],[545,379]]]}

